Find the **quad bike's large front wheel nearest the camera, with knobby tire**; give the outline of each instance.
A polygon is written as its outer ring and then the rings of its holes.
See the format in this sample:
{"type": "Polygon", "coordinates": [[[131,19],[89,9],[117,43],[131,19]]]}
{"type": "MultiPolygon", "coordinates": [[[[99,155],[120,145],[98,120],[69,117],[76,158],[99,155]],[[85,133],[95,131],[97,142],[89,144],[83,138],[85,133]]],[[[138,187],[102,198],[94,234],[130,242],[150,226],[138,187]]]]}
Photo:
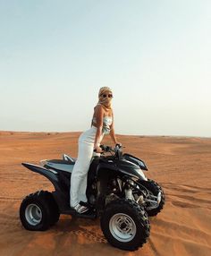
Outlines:
{"type": "Polygon", "coordinates": [[[138,250],[149,236],[150,225],[146,211],[129,199],[107,204],[100,224],[107,241],[122,250],[138,250]]]}

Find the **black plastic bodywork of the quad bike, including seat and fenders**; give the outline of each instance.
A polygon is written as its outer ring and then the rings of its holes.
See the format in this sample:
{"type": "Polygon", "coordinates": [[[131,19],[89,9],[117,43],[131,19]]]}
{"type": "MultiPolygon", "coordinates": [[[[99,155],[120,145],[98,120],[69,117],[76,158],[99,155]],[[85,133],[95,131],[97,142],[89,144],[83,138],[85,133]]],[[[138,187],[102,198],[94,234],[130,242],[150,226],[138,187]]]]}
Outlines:
{"type": "MultiPolygon", "coordinates": [[[[135,177],[139,180],[143,179],[139,174],[141,170],[138,164],[139,159],[137,159],[131,161],[131,155],[129,154],[124,154],[121,158],[94,157],[92,159],[88,172],[87,197],[89,199],[89,192],[93,192],[92,184],[98,183],[99,191],[96,193],[96,209],[103,209],[107,184],[111,179],[116,177],[135,177]]],[[[55,186],[55,192],[52,193],[60,213],[72,213],[72,209],[70,208],[70,183],[72,168],[74,166],[73,161],[63,159],[47,160],[47,164],[43,167],[28,163],[22,163],[22,165],[33,172],[46,176],[55,186]]]]}

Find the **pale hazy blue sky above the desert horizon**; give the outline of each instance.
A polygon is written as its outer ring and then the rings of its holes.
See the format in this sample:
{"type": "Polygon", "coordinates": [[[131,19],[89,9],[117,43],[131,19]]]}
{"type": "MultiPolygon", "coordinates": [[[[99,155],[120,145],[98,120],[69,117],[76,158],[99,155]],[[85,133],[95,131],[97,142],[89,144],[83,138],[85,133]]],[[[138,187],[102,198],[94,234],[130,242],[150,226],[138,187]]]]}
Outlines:
{"type": "Polygon", "coordinates": [[[211,137],[210,0],[0,0],[0,131],[211,137]]]}

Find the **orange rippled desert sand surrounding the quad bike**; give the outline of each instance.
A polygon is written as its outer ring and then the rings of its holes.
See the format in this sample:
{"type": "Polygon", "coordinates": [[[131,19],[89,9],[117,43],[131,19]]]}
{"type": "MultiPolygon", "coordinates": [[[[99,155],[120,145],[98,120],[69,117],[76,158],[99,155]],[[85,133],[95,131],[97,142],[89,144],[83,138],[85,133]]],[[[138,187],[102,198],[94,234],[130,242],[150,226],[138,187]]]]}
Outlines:
{"type": "MultiPolygon", "coordinates": [[[[21,162],[77,157],[80,132],[0,132],[0,255],[211,255],[211,139],[119,135],[125,152],[142,158],[148,178],[165,191],[165,208],[149,218],[148,243],[125,252],[106,242],[99,220],[62,215],[45,232],[21,226],[22,199],[38,190],[53,191],[45,177],[21,162]]],[[[110,144],[105,138],[105,144],[110,144]]]]}

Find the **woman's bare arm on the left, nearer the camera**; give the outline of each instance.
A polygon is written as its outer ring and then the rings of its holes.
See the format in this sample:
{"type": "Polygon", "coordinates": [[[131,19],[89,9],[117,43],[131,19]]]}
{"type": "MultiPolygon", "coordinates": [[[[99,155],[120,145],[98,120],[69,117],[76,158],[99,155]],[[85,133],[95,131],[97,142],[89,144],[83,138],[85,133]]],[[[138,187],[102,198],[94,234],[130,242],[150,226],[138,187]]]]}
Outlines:
{"type": "Polygon", "coordinates": [[[99,148],[99,143],[100,143],[100,138],[102,136],[102,129],[103,129],[103,117],[104,117],[104,109],[101,106],[97,106],[95,108],[95,114],[96,116],[96,121],[97,121],[97,132],[96,132],[96,137],[94,141],[94,149],[97,150],[97,153],[102,152],[102,150],[99,148]]]}

